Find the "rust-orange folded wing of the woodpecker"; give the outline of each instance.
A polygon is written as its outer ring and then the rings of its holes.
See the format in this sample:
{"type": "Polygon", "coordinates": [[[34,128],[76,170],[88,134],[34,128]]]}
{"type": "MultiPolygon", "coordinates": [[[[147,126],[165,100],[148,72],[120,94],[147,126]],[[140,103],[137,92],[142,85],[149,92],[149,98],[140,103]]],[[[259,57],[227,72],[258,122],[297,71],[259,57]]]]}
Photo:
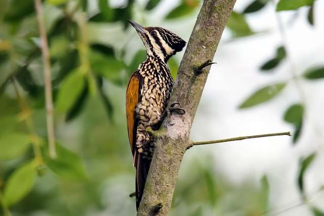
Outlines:
{"type": "Polygon", "coordinates": [[[130,81],[127,85],[126,90],[126,118],[127,118],[127,127],[128,127],[128,138],[131,145],[131,150],[134,156],[135,153],[135,139],[136,139],[136,116],[135,116],[135,108],[139,102],[139,85],[140,78],[137,71],[135,71],[130,81]]]}

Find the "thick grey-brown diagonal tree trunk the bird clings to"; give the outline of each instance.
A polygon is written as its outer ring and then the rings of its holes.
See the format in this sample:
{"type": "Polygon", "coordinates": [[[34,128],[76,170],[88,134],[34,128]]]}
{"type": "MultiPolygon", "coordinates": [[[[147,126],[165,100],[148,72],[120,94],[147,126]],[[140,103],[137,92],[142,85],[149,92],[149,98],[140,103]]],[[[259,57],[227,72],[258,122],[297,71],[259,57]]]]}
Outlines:
{"type": "Polygon", "coordinates": [[[214,58],[234,4],[235,0],[205,0],[200,9],[169,101],[169,106],[179,103],[185,114],[166,117],[158,131],[137,215],[167,215],[170,211],[180,163],[190,147],[190,129],[210,66],[204,68],[206,73],[196,74],[194,69],[214,58]],[[157,203],[163,207],[154,212],[157,203]]]}

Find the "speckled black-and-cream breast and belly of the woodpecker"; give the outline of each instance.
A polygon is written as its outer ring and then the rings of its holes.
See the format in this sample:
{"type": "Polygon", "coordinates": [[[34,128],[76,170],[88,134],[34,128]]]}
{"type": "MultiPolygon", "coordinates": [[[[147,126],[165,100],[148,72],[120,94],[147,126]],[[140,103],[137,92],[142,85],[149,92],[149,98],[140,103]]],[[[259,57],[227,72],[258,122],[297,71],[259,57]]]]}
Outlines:
{"type": "Polygon", "coordinates": [[[146,127],[153,129],[161,120],[173,88],[173,78],[164,62],[156,57],[148,57],[138,71],[142,76],[140,102],[136,107],[138,121],[136,133],[137,151],[143,158],[151,159],[154,143],[146,132],[146,127]]]}

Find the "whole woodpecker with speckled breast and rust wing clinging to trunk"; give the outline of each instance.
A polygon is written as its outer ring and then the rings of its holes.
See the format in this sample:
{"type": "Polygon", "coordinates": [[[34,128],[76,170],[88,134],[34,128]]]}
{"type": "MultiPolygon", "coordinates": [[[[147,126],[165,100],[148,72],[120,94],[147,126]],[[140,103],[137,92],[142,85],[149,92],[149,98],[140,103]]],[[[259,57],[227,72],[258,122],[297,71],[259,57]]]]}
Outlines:
{"type": "Polygon", "coordinates": [[[165,28],[143,27],[132,20],[129,22],[146,49],[146,59],[131,75],[126,90],[126,118],[136,168],[138,210],[154,151],[153,138],[147,128],[157,130],[163,121],[174,82],[167,62],[182,51],[186,41],[165,28]]]}

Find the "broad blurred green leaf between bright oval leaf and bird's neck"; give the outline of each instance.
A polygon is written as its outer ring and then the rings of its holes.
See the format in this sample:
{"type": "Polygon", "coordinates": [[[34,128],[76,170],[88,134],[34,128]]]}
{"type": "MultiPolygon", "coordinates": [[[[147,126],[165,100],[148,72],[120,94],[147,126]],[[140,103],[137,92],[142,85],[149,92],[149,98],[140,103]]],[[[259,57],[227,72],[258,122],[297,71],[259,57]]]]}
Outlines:
{"type": "Polygon", "coordinates": [[[126,68],[124,62],[113,56],[103,55],[98,52],[90,52],[90,64],[93,72],[102,75],[107,80],[119,84],[122,78],[121,72],[126,68]]]}

